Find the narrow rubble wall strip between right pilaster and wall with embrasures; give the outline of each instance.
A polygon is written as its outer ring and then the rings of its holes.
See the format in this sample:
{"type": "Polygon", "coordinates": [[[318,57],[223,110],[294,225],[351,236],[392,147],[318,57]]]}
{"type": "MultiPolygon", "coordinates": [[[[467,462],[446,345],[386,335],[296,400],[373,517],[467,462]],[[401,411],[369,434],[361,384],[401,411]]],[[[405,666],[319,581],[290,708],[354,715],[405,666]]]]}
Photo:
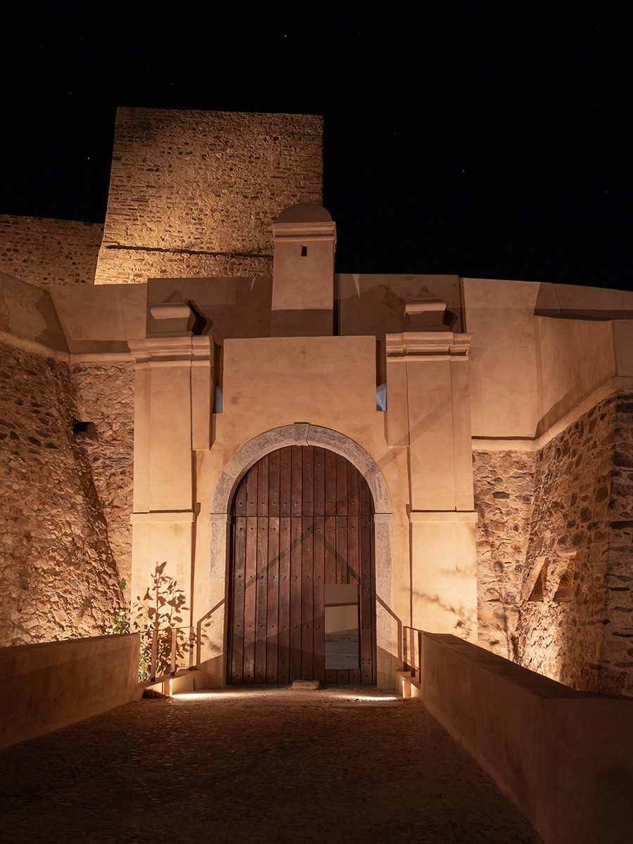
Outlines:
{"type": "Polygon", "coordinates": [[[478,644],[506,659],[516,659],[534,454],[473,452],[473,482],[479,516],[475,532],[478,644]]]}

